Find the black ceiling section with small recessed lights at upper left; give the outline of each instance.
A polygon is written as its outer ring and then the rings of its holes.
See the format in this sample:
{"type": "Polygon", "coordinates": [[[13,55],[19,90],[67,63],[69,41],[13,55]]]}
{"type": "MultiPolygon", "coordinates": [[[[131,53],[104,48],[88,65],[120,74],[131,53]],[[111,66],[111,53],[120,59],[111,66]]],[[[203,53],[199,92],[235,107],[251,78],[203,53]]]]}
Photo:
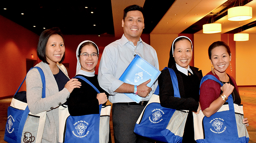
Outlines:
{"type": "Polygon", "coordinates": [[[111,0],[5,0],[0,15],[39,35],[44,27],[60,27],[63,34],[114,34],[111,0]]]}

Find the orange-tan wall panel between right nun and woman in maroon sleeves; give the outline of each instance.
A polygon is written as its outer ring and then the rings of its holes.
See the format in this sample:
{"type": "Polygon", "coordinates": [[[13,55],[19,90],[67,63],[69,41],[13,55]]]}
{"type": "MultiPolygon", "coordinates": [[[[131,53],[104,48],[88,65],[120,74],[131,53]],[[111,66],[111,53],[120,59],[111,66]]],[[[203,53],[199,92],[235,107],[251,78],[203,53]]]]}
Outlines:
{"type": "Polygon", "coordinates": [[[194,34],[194,66],[202,70],[203,75],[211,70],[208,48],[215,41],[220,41],[220,34],[194,34]]]}

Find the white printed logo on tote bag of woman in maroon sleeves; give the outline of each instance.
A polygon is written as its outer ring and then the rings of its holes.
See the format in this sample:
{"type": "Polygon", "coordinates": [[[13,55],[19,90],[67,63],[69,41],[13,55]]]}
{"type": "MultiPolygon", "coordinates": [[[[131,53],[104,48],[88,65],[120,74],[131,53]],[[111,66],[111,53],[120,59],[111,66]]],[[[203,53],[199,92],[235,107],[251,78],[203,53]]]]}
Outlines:
{"type": "Polygon", "coordinates": [[[210,121],[211,123],[211,126],[214,127],[214,130],[212,128],[210,128],[210,130],[213,132],[213,133],[223,133],[225,130],[226,130],[226,126],[224,126],[224,128],[222,127],[223,125],[223,121],[224,119],[221,119],[221,118],[215,118],[215,119],[212,119],[210,121]]]}

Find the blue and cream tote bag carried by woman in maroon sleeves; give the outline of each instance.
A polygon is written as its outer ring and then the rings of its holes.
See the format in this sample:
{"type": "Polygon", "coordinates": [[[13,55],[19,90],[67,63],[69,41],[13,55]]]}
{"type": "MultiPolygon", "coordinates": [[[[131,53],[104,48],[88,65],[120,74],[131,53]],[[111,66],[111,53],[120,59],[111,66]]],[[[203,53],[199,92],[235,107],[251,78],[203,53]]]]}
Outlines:
{"type": "MultiPolygon", "coordinates": [[[[213,75],[205,75],[200,83],[207,79],[221,83],[213,75]]],[[[232,96],[228,96],[227,103],[210,117],[193,113],[194,135],[197,143],[248,143],[249,135],[243,124],[243,106],[233,103],[232,96]]]]}

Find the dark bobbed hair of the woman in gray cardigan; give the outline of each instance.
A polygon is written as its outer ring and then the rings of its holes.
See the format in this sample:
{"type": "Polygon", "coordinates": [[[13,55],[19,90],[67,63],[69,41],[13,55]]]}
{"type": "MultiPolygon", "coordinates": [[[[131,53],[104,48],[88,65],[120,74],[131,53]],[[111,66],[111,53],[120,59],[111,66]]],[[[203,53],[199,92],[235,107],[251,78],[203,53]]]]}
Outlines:
{"type": "MultiPolygon", "coordinates": [[[[37,45],[37,56],[40,60],[42,60],[44,63],[48,64],[49,63],[47,62],[46,60],[46,45],[47,45],[47,42],[49,40],[49,38],[52,36],[52,35],[60,35],[63,39],[63,42],[64,42],[64,38],[63,38],[63,35],[62,35],[62,32],[60,30],[60,28],[58,27],[54,27],[54,28],[51,28],[51,29],[47,29],[47,30],[44,30],[40,37],[39,37],[39,40],[38,40],[38,45],[37,45]]],[[[64,61],[64,58],[65,58],[65,53],[61,59],[61,61],[59,63],[62,63],[64,61]]]]}

